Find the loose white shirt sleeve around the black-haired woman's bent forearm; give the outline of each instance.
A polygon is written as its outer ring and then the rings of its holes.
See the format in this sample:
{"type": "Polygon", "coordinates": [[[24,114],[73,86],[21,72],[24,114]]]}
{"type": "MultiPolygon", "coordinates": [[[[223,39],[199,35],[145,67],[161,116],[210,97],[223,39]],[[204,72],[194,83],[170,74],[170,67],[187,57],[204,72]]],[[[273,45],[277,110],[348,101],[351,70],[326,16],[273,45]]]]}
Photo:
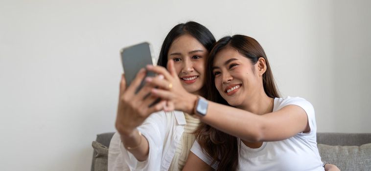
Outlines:
{"type": "Polygon", "coordinates": [[[108,153],[108,171],[159,171],[166,130],[166,115],[164,112],[151,114],[138,130],[149,144],[148,158],[138,161],[135,156],[123,146],[120,135],[116,132],[111,139],[108,153]]]}

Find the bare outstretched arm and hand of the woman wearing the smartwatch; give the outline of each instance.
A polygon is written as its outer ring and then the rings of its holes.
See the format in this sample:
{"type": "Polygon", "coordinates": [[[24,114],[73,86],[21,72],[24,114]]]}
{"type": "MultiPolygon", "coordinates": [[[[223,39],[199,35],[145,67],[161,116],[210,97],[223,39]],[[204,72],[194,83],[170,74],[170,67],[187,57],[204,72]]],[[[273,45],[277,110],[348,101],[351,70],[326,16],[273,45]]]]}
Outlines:
{"type": "MultiPolygon", "coordinates": [[[[173,109],[193,113],[197,96],[183,88],[173,61],[168,62],[168,68],[170,73],[161,66],[147,67],[148,70],[162,74],[165,78],[165,80],[146,79],[153,86],[161,87],[152,89],[151,93],[173,103],[173,109]]],[[[310,130],[306,112],[296,105],[288,105],[265,115],[256,115],[209,101],[208,112],[201,121],[249,142],[279,141],[310,130]]]]}

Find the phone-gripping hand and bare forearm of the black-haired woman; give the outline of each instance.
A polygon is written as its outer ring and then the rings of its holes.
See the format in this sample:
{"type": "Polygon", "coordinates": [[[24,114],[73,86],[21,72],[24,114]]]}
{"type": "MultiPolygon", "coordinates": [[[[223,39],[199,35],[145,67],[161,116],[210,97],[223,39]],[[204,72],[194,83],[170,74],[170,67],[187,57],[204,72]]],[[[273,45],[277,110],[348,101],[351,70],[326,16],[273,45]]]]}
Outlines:
{"type": "Polygon", "coordinates": [[[164,101],[162,101],[149,107],[157,99],[153,96],[146,96],[152,88],[150,85],[145,85],[135,94],[135,90],[144,77],[145,70],[141,69],[133,83],[126,88],[125,76],[122,74],[115,124],[123,146],[139,161],[147,159],[149,144],[147,139],[137,130],[137,127],[151,113],[162,110],[164,105],[164,101]]]}

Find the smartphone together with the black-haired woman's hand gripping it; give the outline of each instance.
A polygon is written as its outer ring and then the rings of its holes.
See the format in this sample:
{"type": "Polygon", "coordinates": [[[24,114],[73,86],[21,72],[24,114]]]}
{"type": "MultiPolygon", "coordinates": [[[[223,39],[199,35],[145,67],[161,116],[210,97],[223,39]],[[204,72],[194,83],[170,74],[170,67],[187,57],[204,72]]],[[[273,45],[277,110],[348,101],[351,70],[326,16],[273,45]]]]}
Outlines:
{"type": "Polygon", "coordinates": [[[151,113],[162,110],[166,101],[151,96],[152,85],[144,85],[145,77],[155,76],[154,72],[144,70],[147,64],[152,64],[149,43],[121,49],[121,60],[125,74],[120,84],[116,129],[129,136],[151,113]]]}

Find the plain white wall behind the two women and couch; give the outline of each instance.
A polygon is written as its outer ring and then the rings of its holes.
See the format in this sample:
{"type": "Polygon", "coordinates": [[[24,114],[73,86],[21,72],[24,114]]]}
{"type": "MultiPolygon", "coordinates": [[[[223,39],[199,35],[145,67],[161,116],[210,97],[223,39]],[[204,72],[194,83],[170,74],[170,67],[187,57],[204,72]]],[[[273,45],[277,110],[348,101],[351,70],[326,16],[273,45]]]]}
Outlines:
{"type": "Polygon", "coordinates": [[[282,95],[316,109],[318,131],[371,132],[369,0],[1,0],[2,171],[89,170],[97,133],[115,131],[118,50],[158,54],[188,20],[217,39],[265,48],[282,95]]]}

